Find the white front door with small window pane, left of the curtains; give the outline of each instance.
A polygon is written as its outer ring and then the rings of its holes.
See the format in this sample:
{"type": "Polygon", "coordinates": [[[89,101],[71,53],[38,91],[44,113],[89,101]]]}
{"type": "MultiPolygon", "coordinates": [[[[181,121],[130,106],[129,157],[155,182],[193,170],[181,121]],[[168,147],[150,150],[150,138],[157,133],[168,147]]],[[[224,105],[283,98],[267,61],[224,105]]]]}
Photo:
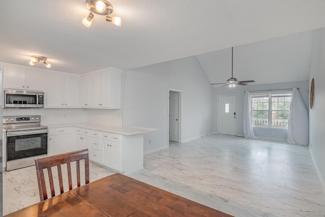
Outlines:
{"type": "Polygon", "coordinates": [[[237,96],[218,96],[218,133],[236,135],[237,96]]]}

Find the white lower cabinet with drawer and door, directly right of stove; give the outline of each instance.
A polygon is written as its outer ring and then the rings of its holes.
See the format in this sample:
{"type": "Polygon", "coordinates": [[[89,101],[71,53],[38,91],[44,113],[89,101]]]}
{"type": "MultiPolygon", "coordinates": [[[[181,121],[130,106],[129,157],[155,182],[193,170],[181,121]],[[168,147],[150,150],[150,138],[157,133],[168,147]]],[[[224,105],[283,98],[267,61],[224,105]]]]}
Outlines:
{"type": "Polygon", "coordinates": [[[74,127],[49,129],[49,155],[66,153],[74,150],[74,127]]]}

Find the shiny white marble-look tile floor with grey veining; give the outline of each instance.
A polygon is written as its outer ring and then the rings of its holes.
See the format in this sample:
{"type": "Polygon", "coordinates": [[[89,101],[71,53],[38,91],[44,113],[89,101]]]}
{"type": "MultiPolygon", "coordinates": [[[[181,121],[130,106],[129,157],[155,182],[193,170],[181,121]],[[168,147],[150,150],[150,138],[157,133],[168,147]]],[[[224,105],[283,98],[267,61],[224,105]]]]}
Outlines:
{"type": "MultiPolygon", "coordinates": [[[[90,181],[113,173],[90,165],[90,181]]],[[[146,154],[128,176],[234,216],[325,216],[306,146],[213,134],[146,154]]],[[[37,202],[35,167],[4,172],[4,214],[37,202]]]]}

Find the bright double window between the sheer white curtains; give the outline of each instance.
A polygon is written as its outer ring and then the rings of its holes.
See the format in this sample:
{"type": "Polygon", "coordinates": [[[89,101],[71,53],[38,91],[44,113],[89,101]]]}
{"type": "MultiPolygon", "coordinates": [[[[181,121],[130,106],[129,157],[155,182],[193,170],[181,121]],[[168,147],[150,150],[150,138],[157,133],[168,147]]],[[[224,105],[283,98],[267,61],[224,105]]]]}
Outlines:
{"type": "Polygon", "coordinates": [[[291,92],[252,95],[251,102],[253,126],[288,127],[291,92]]]}

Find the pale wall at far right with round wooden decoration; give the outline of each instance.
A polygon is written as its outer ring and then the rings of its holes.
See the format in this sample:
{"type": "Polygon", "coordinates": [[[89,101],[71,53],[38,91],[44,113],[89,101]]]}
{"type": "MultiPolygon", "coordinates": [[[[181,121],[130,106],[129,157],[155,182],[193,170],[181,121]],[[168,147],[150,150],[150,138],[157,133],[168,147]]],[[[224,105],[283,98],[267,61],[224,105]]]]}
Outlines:
{"type": "Polygon", "coordinates": [[[325,28],[314,32],[309,87],[312,78],[315,95],[313,108],[309,109],[309,148],[325,191],[325,28]]]}

